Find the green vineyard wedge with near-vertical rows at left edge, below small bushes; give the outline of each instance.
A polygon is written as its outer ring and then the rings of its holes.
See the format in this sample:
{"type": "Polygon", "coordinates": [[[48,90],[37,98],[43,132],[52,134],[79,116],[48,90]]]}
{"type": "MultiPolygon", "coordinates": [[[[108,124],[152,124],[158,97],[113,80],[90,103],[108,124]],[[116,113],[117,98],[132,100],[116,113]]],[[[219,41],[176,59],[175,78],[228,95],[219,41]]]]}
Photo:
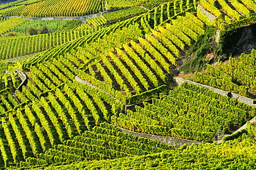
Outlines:
{"type": "Polygon", "coordinates": [[[69,30],[52,34],[38,34],[34,36],[0,37],[1,59],[11,59],[17,56],[42,52],[56,45],[62,45],[81,36],[90,34],[92,30],[69,30]]]}

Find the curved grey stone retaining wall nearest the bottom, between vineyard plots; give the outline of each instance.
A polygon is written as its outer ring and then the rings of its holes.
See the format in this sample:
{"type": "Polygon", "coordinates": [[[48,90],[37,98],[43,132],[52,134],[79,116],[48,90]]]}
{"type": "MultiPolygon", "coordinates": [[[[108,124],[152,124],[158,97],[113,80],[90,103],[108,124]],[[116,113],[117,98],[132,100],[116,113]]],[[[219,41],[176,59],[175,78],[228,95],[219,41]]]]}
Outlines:
{"type": "Polygon", "coordinates": [[[134,136],[139,136],[147,139],[157,140],[158,142],[162,142],[167,145],[174,145],[175,147],[181,147],[181,145],[192,145],[192,143],[201,143],[199,141],[194,140],[186,140],[186,139],[179,139],[179,138],[173,138],[169,136],[158,136],[158,135],[152,135],[152,134],[143,134],[138,133],[134,131],[129,131],[127,129],[123,129],[122,127],[118,127],[120,131],[125,132],[127,134],[131,134],[134,136]]]}

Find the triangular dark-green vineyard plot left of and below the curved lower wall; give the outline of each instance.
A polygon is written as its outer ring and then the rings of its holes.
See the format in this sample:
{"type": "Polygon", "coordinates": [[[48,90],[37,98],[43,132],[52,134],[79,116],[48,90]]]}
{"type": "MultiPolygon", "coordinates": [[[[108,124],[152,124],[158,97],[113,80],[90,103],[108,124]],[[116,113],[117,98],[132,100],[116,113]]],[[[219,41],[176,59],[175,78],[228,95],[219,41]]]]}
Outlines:
{"type": "Polygon", "coordinates": [[[37,158],[28,158],[26,162],[21,162],[20,166],[116,159],[174,149],[173,146],[161,142],[125,134],[107,123],[93,127],[92,131],[84,131],[82,136],[75,136],[73,140],[65,140],[63,143],[55,149],[48,149],[46,153],[39,154],[37,158]]]}

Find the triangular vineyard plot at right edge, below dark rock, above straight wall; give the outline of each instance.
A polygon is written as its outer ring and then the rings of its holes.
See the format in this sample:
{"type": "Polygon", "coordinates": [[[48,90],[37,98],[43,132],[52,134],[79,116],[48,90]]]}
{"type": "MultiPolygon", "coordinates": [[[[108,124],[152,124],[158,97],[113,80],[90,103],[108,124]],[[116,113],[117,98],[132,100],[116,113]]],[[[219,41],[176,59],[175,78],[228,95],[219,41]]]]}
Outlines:
{"type": "Polygon", "coordinates": [[[254,77],[255,50],[251,54],[241,54],[239,59],[230,58],[228,64],[219,62],[217,67],[208,65],[205,74],[195,74],[194,81],[228,92],[250,96],[256,89],[254,77]]]}

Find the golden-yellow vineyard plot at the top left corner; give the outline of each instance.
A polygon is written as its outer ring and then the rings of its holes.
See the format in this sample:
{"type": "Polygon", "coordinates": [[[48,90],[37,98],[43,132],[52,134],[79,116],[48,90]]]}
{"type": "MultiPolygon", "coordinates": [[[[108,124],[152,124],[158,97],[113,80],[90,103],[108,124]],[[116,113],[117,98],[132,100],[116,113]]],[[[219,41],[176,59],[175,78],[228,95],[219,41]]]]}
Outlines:
{"type": "Polygon", "coordinates": [[[78,17],[86,14],[95,14],[103,11],[101,0],[28,0],[17,3],[12,8],[0,10],[3,16],[19,15],[24,17],[78,17]],[[32,10],[33,9],[33,10],[32,10]]]}

